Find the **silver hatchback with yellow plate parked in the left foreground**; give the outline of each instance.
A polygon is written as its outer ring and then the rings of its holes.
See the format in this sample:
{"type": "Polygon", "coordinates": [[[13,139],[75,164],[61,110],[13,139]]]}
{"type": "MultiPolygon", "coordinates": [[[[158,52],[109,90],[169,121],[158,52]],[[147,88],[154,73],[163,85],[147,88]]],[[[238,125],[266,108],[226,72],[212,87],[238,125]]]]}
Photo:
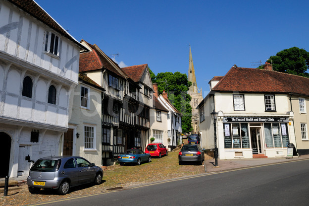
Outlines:
{"type": "Polygon", "coordinates": [[[70,187],[94,182],[100,184],[101,167],[79,156],[50,156],[38,159],[30,168],[27,184],[30,193],[51,188],[65,195],[70,187]]]}

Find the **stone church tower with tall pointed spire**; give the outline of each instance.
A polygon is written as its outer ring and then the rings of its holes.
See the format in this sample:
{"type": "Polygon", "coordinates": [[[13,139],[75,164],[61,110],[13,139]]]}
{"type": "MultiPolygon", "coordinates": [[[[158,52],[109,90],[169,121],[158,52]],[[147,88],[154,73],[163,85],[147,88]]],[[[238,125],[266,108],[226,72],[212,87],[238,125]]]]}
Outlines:
{"type": "Polygon", "coordinates": [[[193,134],[198,134],[199,132],[199,124],[200,124],[200,115],[199,110],[196,109],[196,107],[201,103],[203,100],[203,93],[202,88],[199,89],[196,78],[195,78],[195,70],[193,66],[193,59],[192,59],[192,53],[191,53],[191,45],[190,47],[190,53],[189,53],[189,70],[188,70],[188,80],[192,82],[192,85],[189,88],[188,94],[191,96],[191,102],[190,105],[192,107],[192,128],[193,128],[193,134]]]}

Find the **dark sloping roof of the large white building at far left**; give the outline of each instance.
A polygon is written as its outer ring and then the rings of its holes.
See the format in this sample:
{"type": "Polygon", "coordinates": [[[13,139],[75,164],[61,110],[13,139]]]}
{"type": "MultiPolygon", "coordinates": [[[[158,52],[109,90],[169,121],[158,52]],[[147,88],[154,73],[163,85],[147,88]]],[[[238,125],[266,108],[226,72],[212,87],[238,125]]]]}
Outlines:
{"type": "MultiPolygon", "coordinates": [[[[57,23],[39,4],[33,0],[8,0],[20,9],[29,13],[31,16],[35,17],[39,21],[48,25],[52,29],[56,30],[66,38],[70,39],[75,44],[84,48],[74,37],[72,37],[59,23],[57,23]]],[[[86,48],[84,48],[86,49],[86,48]]]]}

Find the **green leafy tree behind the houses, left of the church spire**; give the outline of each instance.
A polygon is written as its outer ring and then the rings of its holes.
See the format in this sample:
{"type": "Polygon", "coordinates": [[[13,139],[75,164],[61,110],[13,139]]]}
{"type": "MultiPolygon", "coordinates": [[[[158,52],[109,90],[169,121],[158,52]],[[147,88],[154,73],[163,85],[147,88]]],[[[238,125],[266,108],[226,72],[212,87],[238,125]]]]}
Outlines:
{"type": "Polygon", "coordinates": [[[187,74],[176,71],[175,73],[162,72],[152,76],[152,73],[153,72],[151,72],[152,81],[158,84],[158,93],[162,94],[163,91],[166,91],[168,94],[168,100],[182,114],[182,132],[191,132],[193,130],[191,125],[191,96],[187,94],[187,91],[192,83],[188,81],[187,74]]]}

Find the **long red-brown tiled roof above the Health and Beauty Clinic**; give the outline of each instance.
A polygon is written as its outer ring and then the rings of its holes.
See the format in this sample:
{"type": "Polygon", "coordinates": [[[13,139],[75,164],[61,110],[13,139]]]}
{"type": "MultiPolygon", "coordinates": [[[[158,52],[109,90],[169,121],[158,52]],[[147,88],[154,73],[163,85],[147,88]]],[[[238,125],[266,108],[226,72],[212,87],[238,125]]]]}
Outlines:
{"type": "Polygon", "coordinates": [[[272,70],[233,66],[212,91],[294,93],[309,96],[309,78],[272,70]]]}

